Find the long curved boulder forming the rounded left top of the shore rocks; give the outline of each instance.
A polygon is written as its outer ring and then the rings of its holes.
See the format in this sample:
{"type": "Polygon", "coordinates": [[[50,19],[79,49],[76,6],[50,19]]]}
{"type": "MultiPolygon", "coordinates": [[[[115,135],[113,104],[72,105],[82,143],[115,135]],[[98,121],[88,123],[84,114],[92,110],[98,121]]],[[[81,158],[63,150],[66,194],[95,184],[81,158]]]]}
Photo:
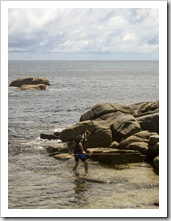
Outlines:
{"type": "Polygon", "coordinates": [[[101,117],[104,114],[109,114],[117,111],[123,113],[132,113],[132,109],[126,105],[115,104],[115,103],[97,104],[93,106],[91,110],[84,113],[81,116],[80,121],[94,120],[96,118],[101,117]]]}

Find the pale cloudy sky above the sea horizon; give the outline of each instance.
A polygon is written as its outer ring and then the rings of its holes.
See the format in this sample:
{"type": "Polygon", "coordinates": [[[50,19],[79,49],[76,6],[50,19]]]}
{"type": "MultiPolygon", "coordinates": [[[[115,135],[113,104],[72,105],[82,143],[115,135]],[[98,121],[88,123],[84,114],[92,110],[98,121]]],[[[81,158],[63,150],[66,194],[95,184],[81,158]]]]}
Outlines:
{"type": "Polygon", "coordinates": [[[10,60],[159,58],[158,9],[11,8],[8,13],[10,60]]]}

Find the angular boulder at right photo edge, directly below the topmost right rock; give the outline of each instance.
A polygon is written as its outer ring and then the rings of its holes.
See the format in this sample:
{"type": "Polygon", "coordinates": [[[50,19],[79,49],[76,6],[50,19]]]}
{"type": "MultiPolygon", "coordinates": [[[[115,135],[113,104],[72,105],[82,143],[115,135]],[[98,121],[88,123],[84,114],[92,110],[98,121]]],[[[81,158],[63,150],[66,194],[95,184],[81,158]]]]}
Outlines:
{"type": "Polygon", "coordinates": [[[149,114],[136,118],[142,130],[159,133],[159,113],[149,114]]]}

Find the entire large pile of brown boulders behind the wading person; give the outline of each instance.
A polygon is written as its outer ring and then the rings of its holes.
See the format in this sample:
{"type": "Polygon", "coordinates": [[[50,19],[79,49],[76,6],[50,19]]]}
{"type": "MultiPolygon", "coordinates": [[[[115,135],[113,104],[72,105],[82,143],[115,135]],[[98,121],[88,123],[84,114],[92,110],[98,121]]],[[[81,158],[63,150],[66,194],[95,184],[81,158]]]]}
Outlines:
{"type": "Polygon", "coordinates": [[[91,132],[85,148],[92,160],[109,165],[148,161],[159,171],[159,101],[97,104],[80,117],[79,123],[40,137],[61,140],[47,151],[66,160],[73,158],[73,140],[85,130],[91,132]]]}

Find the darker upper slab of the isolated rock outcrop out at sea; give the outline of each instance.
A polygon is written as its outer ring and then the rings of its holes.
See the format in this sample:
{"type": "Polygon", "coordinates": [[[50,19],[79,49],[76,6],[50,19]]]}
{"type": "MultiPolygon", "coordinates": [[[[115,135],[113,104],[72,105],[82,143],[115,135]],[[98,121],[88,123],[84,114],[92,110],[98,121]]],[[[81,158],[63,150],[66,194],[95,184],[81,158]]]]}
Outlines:
{"type": "Polygon", "coordinates": [[[9,86],[20,87],[22,85],[36,85],[36,84],[50,85],[49,80],[47,78],[27,77],[27,78],[17,78],[16,80],[12,81],[9,86]]]}

